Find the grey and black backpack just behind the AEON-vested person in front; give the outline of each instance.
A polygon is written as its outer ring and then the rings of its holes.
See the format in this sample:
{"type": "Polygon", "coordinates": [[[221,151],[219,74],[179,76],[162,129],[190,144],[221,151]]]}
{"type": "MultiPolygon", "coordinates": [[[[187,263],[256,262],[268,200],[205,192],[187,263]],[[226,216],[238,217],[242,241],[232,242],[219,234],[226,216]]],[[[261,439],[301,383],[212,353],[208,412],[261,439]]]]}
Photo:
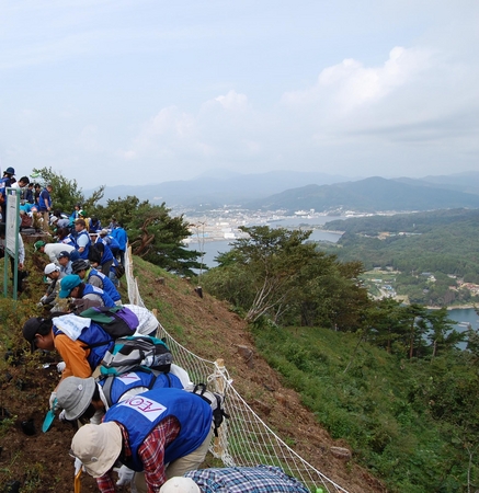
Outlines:
{"type": "Polygon", "coordinates": [[[103,357],[102,375],[122,375],[138,368],[170,371],[173,355],[163,341],[149,335],[126,336],[115,341],[103,357]]]}

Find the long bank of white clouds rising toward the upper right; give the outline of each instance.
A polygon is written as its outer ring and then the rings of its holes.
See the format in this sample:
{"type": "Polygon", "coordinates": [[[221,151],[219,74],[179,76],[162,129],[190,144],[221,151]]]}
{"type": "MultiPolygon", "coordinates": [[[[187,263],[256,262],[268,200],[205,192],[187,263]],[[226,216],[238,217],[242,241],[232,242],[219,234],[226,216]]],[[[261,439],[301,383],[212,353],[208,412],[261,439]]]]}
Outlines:
{"type": "Polygon", "coordinates": [[[449,84],[459,73],[467,73],[464,66],[432,49],[394,47],[378,66],[350,58],[326,67],[311,87],[286,92],[277,105],[261,111],[233,89],[205,101],[197,112],[164,107],[121,154],[203,167],[241,163],[244,172],[295,162],[313,169],[327,156],[351,165],[356,158],[411,156],[418,146],[424,156],[424,149],[437,142],[444,147],[446,140],[463,139],[465,146],[467,135],[477,133],[470,117],[470,125],[458,125],[475,91],[451,95],[449,84]],[[403,146],[409,149],[401,151],[403,146]]]}

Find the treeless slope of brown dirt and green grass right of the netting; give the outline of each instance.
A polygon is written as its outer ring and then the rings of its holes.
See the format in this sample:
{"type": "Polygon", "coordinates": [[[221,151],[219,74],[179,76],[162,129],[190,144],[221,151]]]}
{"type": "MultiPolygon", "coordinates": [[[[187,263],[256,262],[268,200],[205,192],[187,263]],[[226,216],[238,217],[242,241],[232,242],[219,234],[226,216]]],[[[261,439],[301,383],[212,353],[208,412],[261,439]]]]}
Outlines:
{"type": "Polygon", "coordinates": [[[423,402],[432,376],[455,371],[454,358],[402,360],[367,343],[356,348],[356,334],[320,328],[251,331],[225,303],[207,294],[201,299],[185,280],[167,275],[162,286],[155,279],[164,273],[139,260],[135,266],[141,296],[158,308],[163,326],[198,356],[223,357],[251,408],[339,484],[351,492],[380,488],[369,475],[364,484],[357,467],[331,462],[332,445],[351,447],[355,460],[384,478],[390,491],[461,491],[455,475],[464,475],[465,465],[423,402]],[[265,359],[256,356],[249,368],[239,345],[265,359]]]}

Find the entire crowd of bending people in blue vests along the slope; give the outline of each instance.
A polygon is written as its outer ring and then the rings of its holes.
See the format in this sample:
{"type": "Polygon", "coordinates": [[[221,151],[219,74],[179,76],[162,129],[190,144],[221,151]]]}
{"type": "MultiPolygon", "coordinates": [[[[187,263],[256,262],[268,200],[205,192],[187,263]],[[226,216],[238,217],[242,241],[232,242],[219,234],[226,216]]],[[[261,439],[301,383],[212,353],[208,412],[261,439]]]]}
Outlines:
{"type": "MultiPolygon", "coordinates": [[[[14,176],[11,168],[5,173],[10,180],[14,176]]],[[[30,188],[28,179],[19,182],[30,188]]],[[[11,185],[10,181],[5,186],[11,185]]],[[[33,203],[22,199],[22,207],[32,206],[23,215],[35,218],[45,231],[52,228],[54,239],[34,243],[35,253],[48,257],[47,287],[38,301],[44,313],[30,318],[22,331],[32,352],[56,351],[62,359],[49,408],[61,410],[61,421],[79,426],[70,450],[76,475],[87,471],[96,478],[102,493],[123,485],[138,493],[307,493],[275,467],[198,469],[216,431],[213,403],[219,397],[198,394],[198,386],[183,368],[171,364],[167,371],[159,371],[138,364],[125,374],[99,372],[117,339],[89,310],[109,316],[126,310],[138,340],[155,340],[159,322],[150,310],[122,302],[118,267],[125,263],[127,244],[122,225],[112,218],[103,228],[98,218],[87,217],[80,204],[65,217],[53,208],[52,193],[47,185],[38,200],[35,195],[33,203]]],[[[2,208],[0,242],[4,219],[2,208]]],[[[23,241],[19,241],[19,268],[24,259],[23,241]]]]}

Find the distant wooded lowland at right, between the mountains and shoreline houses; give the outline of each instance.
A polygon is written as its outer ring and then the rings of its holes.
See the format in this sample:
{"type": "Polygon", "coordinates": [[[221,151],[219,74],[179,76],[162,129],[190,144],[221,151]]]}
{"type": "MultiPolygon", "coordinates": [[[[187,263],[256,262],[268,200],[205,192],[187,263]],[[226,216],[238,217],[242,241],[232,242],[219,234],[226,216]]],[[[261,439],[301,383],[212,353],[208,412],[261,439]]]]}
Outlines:
{"type": "Polygon", "coordinates": [[[479,300],[467,289],[451,289],[452,276],[479,284],[478,209],[354,218],[324,228],[345,233],[334,245],[320,244],[321,250],[342,262],[360,260],[366,271],[398,271],[396,290],[411,302],[446,306],[479,300]],[[433,274],[434,283],[423,273],[433,274]]]}

